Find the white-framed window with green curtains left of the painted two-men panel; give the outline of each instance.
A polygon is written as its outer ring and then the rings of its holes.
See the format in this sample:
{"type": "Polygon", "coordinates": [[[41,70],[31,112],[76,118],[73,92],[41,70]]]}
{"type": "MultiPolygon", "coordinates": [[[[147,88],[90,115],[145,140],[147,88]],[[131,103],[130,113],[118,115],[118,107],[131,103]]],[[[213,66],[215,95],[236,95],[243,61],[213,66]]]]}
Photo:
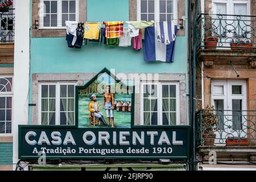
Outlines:
{"type": "Polygon", "coordinates": [[[75,125],[75,82],[39,84],[42,125],[75,125]]]}

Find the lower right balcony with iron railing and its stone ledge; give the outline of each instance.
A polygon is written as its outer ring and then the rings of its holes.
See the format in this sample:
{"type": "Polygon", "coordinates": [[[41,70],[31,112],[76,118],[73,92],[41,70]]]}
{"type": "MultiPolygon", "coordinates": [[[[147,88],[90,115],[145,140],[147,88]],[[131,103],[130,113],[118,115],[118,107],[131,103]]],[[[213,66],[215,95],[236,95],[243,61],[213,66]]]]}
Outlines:
{"type": "Polygon", "coordinates": [[[197,154],[217,160],[256,161],[256,111],[199,110],[197,112],[197,154]]]}

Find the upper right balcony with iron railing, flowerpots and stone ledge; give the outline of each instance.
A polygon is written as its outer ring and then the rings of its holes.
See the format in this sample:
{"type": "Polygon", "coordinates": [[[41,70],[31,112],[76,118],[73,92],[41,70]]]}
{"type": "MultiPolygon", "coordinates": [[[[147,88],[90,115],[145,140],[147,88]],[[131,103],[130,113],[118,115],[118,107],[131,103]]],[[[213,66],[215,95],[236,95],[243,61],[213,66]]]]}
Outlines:
{"type": "Polygon", "coordinates": [[[206,66],[232,60],[256,68],[256,16],[200,14],[196,32],[197,57],[206,66]]]}

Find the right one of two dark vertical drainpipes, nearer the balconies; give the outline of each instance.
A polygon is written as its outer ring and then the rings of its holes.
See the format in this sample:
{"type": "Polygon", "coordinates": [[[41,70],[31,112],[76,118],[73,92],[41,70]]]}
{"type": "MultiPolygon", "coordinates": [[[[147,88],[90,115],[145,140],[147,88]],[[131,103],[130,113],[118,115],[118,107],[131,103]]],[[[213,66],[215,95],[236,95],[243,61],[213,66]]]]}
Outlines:
{"type": "Polygon", "coordinates": [[[199,11],[199,0],[196,0],[196,10],[193,26],[193,106],[192,106],[192,122],[193,122],[193,170],[196,170],[196,20],[199,11]]]}

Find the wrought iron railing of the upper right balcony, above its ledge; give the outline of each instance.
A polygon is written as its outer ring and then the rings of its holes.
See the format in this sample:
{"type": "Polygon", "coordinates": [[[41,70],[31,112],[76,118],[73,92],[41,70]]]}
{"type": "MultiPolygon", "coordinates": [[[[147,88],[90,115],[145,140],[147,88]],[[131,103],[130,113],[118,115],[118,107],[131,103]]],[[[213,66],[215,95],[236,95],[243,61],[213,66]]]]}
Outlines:
{"type": "Polygon", "coordinates": [[[196,43],[199,49],[256,49],[256,16],[200,14],[196,43]]]}

